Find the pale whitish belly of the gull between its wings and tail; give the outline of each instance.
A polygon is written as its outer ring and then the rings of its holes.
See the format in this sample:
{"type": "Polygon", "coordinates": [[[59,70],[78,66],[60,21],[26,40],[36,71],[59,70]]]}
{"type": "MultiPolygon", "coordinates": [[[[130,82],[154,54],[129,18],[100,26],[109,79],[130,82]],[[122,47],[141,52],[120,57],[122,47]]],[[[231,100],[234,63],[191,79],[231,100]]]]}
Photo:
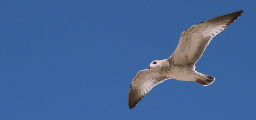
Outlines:
{"type": "Polygon", "coordinates": [[[194,70],[189,68],[174,68],[166,76],[179,81],[195,81],[194,70]]]}

